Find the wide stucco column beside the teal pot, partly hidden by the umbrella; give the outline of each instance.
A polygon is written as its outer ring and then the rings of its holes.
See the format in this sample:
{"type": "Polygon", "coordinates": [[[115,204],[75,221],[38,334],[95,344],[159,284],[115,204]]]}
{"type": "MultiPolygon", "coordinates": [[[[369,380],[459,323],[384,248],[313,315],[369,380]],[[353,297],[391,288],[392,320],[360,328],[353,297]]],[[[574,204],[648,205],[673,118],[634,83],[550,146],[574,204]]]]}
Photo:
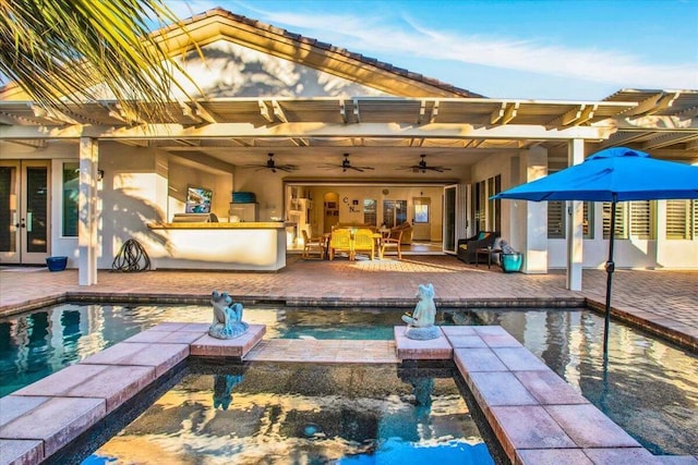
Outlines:
{"type": "MultiPolygon", "coordinates": [[[[521,154],[521,183],[538,180],[547,175],[547,149],[533,147],[521,154]]],[[[518,210],[516,229],[524,230],[524,267],[525,273],[537,274],[547,272],[547,203],[516,200],[518,210]],[[518,224],[518,227],[517,227],[518,224]]],[[[517,247],[517,244],[513,244],[517,247]]]]}

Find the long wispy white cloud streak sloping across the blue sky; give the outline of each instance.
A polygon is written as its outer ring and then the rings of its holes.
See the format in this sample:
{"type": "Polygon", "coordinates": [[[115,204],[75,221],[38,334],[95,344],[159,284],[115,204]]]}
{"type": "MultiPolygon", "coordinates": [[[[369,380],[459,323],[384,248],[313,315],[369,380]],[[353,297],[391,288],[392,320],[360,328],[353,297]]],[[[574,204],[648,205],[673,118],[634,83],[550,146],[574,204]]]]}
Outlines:
{"type": "MultiPolygon", "coordinates": [[[[198,2],[206,3],[206,2],[198,2]]],[[[542,39],[459,34],[433,29],[406,17],[387,23],[385,15],[309,14],[264,11],[255,3],[234,2],[262,22],[285,27],[350,51],[382,61],[422,57],[462,64],[493,66],[582,79],[618,87],[698,88],[695,62],[657,64],[646,58],[606,48],[573,48],[545,44],[542,39]]],[[[399,62],[392,64],[400,66],[399,62]]]]}

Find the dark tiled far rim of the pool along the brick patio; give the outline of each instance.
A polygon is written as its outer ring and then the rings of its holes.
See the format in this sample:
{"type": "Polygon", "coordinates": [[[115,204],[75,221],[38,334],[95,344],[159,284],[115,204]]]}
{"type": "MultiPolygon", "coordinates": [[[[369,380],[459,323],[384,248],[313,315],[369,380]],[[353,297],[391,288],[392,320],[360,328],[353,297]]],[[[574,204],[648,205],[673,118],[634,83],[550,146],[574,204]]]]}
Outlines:
{"type": "MultiPolygon", "coordinates": [[[[358,297],[287,297],[274,295],[231,295],[234,302],[243,305],[272,304],[289,307],[325,308],[412,308],[414,298],[374,298],[358,297]]],[[[123,293],[95,291],[67,291],[19,304],[0,306],[0,317],[31,311],[49,305],[75,303],[113,304],[171,304],[208,305],[209,294],[181,295],[171,293],[123,293]]],[[[597,314],[605,314],[602,296],[586,297],[505,297],[505,298],[435,298],[437,308],[586,308],[597,314]]],[[[617,321],[639,328],[648,333],[669,341],[677,346],[698,354],[698,333],[690,327],[677,321],[666,320],[651,313],[631,306],[611,307],[611,317],[617,321]]]]}

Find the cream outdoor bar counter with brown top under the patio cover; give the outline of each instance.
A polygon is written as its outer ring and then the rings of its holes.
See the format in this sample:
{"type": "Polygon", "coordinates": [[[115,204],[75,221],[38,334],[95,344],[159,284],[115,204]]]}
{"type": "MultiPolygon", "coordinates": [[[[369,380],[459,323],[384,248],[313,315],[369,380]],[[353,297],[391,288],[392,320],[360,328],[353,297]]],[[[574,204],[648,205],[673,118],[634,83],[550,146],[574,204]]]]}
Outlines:
{"type": "Polygon", "coordinates": [[[155,269],[277,271],[286,267],[286,227],[268,222],[149,223],[155,269]]]}

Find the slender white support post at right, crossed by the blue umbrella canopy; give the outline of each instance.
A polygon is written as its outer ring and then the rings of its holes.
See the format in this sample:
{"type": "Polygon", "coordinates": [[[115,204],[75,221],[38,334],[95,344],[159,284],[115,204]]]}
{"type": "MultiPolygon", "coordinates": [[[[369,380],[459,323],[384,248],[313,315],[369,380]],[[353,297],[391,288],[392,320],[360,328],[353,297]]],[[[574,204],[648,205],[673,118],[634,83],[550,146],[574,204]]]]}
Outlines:
{"type": "MultiPolygon", "coordinates": [[[[571,139],[567,145],[567,161],[571,167],[585,161],[583,139],[571,139]]],[[[583,266],[583,203],[567,201],[567,289],[581,291],[581,270],[583,266]]],[[[590,212],[591,215],[591,212],[590,212]]]]}

